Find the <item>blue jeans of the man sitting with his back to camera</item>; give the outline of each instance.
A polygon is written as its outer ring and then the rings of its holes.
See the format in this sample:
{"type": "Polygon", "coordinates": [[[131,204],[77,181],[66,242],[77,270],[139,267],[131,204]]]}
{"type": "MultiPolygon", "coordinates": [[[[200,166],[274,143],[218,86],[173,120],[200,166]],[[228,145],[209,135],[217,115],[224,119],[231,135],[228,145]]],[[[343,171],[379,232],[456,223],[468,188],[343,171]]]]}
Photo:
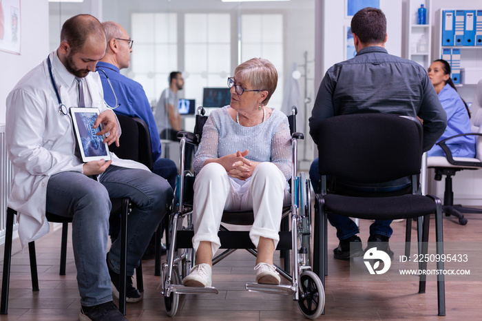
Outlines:
{"type": "MultiPolygon", "coordinates": [[[[316,158],[315,161],[311,163],[310,167],[311,185],[313,185],[313,189],[315,189],[316,193],[319,193],[319,181],[321,180],[318,169],[318,158],[316,158]]],[[[357,191],[373,191],[374,193],[376,193],[377,191],[397,191],[408,186],[408,184],[410,184],[408,178],[404,178],[402,180],[381,183],[377,186],[371,185],[370,187],[359,187],[355,185],[350,185],[350,183],[348,182],[344,182],[344,187],[357,191]]],[[[337,229],[337,238],[339,240],[350,238],[351,236],[359,234],[360,232],[358,226],[348,216],[328,214],[328,220],[330,221],[330,224],[337,229]]],[[[375,222],[370,225],[370,235],[379,234],[390,238],[393,232],[392,228],[390,227],[391,223],[392,220],[375,220],[375,222]]]]}

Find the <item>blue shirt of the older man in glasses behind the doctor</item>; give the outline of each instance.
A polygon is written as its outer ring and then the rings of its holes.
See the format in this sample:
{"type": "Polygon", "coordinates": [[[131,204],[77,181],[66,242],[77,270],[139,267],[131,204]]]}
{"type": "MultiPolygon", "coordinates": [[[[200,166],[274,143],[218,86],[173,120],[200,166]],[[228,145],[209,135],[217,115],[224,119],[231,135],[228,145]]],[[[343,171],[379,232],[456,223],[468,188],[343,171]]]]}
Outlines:
{"type": "MultiPolygon", "coordinates": [[[[137,81],[133,81],[121,74],[119,68],[110,63],[99,61],[96,65],[96,70],[97,69],[101,69],[107,74],[112,83],[112,88],[114,88],[114,92],[116,92],[118,103],[121,104],[114,109],[114,112],[129,117],[138,117],[147,123],[151,135],[152,161],[155,163],[158,158],[160,158],[160,138],[151,105],[149,104],[143,86],[137,81]]],[[[112,92],[103,72],[98,72],[98,74],[101,76],[104,100],[107,102],[107,105],[114,107],[116,105],[114,92],[112,92]]]]}

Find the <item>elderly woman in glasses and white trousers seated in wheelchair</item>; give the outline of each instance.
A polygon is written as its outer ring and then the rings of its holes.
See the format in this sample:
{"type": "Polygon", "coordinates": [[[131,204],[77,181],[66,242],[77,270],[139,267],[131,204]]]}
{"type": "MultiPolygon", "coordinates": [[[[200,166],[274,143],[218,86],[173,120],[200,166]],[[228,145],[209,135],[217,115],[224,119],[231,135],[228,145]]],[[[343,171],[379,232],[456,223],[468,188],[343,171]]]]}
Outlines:
{"type": "Polygon", "coordinates": [[[266,107],[277,71],[266,59],[238,65],[228,79],[231,103],[209,114],[194,169],[193,248],[196,266],[182,284],[211,286],[213,254],[220,248],[222,211],[253,209],[249,232],[258,249],[255,280],[279,284],[273,253],[283,204],[289,203],[291,136],[286,115],[266,107]]]}

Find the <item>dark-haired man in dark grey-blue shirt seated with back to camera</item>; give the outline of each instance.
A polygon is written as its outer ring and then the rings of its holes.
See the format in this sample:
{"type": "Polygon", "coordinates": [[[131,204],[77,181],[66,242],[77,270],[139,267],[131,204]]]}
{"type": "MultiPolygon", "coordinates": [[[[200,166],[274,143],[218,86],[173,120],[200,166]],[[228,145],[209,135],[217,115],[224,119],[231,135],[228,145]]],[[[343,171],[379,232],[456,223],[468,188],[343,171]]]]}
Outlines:
{"type": "MultiPolygon", "coordinates": [[[[423,120],[423,152],[428,151],[443,134],[447,125],[446,112],[440,104],[426,71],[421,65],[388,54],[386,18],[381,10],[364,8],[351,21],[351,31],[357,55],[353,59],[333,65],[319,85],[315,105],[309,118],[310,134],[317,143],[319,124],[326,118],[344,114],[379,112],[417,116],[423,120]]],[[[313,188],[319,189],[318,158],[310,168],[313,188]]],[[[410,184],[408,178],[387,183],[364,186],[364,190],[395,191],[410,184]]],[[[337,185],[359,190],[350,182],[337,185]]],[[[328,214],[331,225],[337,229],[339,246],[333,250],[337,259],[362,256],[359,229],[346,216],[328,214]],[[354,242],[350,253],[350,242],[354,242]]],[[[368,245],[386,251],[391,258],[388,240],[392,235],[391,220],[375,220],[370,225],[368,245]],[[376,242],[376,243],[375,243],[376,242]]]]}

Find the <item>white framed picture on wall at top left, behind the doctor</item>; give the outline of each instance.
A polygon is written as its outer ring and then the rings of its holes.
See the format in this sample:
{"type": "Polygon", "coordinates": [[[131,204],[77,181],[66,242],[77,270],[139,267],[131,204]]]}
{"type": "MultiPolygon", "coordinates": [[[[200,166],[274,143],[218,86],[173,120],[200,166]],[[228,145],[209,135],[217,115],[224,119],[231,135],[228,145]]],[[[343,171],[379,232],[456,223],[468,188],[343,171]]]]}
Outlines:
{"type": "Polygon", "coordinates": [[[20,0],[0,0],[0,50],[20,54],[20,0]]]}

